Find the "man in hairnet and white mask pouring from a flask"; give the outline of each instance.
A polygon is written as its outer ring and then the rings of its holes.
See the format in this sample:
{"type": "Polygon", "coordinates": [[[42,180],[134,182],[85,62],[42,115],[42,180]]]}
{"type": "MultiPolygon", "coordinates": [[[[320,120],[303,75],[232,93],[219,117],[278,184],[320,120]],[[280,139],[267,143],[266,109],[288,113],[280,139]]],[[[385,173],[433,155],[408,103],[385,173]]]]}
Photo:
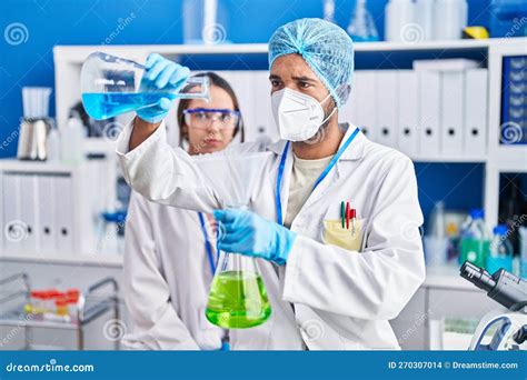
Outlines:
{"type": "MultiPolygon", "coordinates": [[[[272,314],[232,330],[232,349],[398,349],[389,320],[425,278],[412,162],[338,123],[354,71],[342,29],[320,19],[289,22],[269,41],[269,66],[281,140],[229,149],[236,157],[267,152],[251,168],[251,211],[225,210],[231,194],[222,184],[235,178],[222,168],[238,171],[233,160],[191,158],[167,144],[159,126],[168,100],[121,133],[126,179],[156,202],[213,212],[219,248],[258,260],[272,314]]],[[[180,86],[189,73],[159,56],[147,68],[159,88],[180,86]]]]}

